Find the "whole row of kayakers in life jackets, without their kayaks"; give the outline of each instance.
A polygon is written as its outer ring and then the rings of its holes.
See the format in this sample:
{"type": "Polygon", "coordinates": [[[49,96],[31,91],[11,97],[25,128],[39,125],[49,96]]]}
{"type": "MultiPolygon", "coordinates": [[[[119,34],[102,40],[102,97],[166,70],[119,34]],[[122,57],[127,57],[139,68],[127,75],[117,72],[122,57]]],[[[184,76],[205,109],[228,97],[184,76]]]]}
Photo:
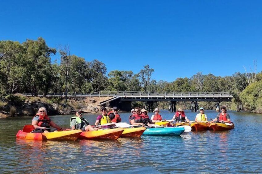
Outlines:
{"type": "MultiPolygon", "coordinates": [[[[195,122],[201,122],[201,121],[208,121],[207,115],[204,113],[204,108],[201,107],[200,113],[196,115],[195,122]]],[[[121,122],[120,115],[118,114],[118,108],[113,107],[112,111],[107,111],[105,107],[101,107],[100,109],[101,115],[98,115],[96,121],[95,121],[95,127],[91,126],[87,119],[82,117],[83,111],[78,110],[74,117],[70,118],[70,128],[71,130],[75,129],[81,129],[82,131],[96,131],[100,127],[99,125],[104,125],[107,123],[119,123],[121,122]]],[[[226,113],[226,107],[221,107],[221,113],[218,113],[215,119],[213,119],[210,123],[217,122],[217,123],[230,123],[230,116],[228,113],[226,113]]],[[[131,110],[132,115],[129,116],[129,122],[131,125],[140,125],[140,126],[148,126],[152,127],[154,126],[154,123],[166,121],[162,118],[162,116],[159,114],[160,110],[158,108],[154,109],[154,114],[151,116],[151,119],[149,118],[146,109],[142,108],[140,110],[139,107],[136,107],[131,110]]],[[[190,123],[190,120],[185,115],[185,112],[182,108],[178,108],[175,115],[173,116],[171,122],[175,123],[181,123],[181,122],[188,122],[190,123]]],[[[45,107],[40,107],[36,115],[32,119],[32,125],[35,127],[35,130],[33,133],[41,133],[41,132],[56,132],[58,130],[65,130],[65,128],[62,128],[58,126],[56,123],[54,123],[47,115],[47,111],[45,107]],[[50,126],[54,127],[50,129],[50,126]]],[[[109,127],[109,126],[108,126],[109,127]]],[[[103,128],[107,128],[104,126],[103,128]]]]}

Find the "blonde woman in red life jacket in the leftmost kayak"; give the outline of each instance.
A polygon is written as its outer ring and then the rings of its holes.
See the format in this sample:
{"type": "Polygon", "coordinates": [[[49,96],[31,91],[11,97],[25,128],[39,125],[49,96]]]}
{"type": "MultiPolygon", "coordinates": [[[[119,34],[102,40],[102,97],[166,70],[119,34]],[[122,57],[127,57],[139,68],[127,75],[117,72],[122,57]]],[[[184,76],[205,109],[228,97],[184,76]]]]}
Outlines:
{"type": "Polygon", "coordinates": [[[42,132],[57,132],[57,130],[65,130],[64,128],[58,126],[54,123],[47,115],[45,107],[40,107],[38,112],[32,119],[32,125],[37,129],[33,130],[33,133],[42,133],[42,132]],[[54,127],[50,129],[50,126],[54,127]],[[49,128],[49,129],[46,129],[49,128]]]}

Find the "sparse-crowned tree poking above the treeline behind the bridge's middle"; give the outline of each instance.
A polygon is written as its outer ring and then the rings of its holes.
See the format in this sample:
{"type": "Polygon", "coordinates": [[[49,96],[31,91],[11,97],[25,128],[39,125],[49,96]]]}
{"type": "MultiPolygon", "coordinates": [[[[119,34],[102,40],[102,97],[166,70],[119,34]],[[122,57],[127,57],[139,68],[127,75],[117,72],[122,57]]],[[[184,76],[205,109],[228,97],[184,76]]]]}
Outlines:
{"type": "Polygon", "coordinates": [[[151,75],[154,72],[153,68],[150,68],[149,65],[144,66],[144,69],[140,70],[138,73],[140,76],[140,81],[144,91],[147,91],[147,87],[151,82],[151,75]]]}

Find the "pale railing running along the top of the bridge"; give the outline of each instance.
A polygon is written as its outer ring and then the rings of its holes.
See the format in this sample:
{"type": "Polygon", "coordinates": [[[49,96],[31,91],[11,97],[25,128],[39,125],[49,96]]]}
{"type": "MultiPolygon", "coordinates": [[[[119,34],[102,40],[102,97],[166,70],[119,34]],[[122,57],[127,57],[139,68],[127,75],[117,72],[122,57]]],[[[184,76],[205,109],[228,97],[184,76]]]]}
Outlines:
{"type": "MultiPolygon", "coordinates": [[[[32,96],[32,94],[23,94],[32,96]]],[[[38,95],[43,96],[43,95],[38,95]]],[[[47,94],[48,97],[65,97],[61,94],[47,94]]],[[[113,96],[134,96],[134,97],[233,97],[229,92],[154,92],[154,91],[99,91],[91,94],[67,94],[68,97],[113,97],[113,96]]]]}

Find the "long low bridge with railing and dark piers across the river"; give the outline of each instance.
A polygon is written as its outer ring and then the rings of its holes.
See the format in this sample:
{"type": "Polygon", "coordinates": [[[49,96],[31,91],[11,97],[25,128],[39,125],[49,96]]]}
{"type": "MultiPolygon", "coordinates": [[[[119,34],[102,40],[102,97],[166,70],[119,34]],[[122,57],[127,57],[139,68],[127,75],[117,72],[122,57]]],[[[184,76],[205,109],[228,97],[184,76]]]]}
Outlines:
{"type": "MultiPolygon", "coordinates": [[[[24,94],[32,96],[32,94],[24,94]]],[[[43,95],[38,95],[43,96],[43,95]]],[[[222,101],[231,101],[233,96],[228,92],[138,92],[138,91],[99,91],[91,94],[67,94],[68,97],[112,97],[99,103],[101,106],[117,106],[121,110],[130,111],[131,102],[142,101],[148,110],[152,110],[153,102],[167,101],[170,103],[169,109],[175,111],[175,104],[178,101],[189,101],[195,105],[199,101],[216,102],[218,108],[222,101]]],[[[65,94],[48,94],[47,97],[65,97],[65,94]]],[[[192,107],[191,107],[192,109],[192,107]]]]}

